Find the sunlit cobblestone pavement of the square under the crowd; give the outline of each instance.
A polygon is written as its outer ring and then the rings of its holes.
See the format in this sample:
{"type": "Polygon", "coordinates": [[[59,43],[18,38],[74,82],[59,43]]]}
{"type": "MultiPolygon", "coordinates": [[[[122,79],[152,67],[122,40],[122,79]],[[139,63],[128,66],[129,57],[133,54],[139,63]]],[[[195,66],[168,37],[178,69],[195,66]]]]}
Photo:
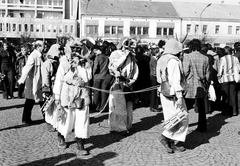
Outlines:
{"type": "MultiPolygon", "coordinates": [[[[16,96],[16,95],[15,95],[16,96]]],[[[76,155],[74,135],[69,147],[57,147],[57,133],[48,132],[39,105],[32,111],[33,126],[21,123],[24,99],[0,97],[0,166],[238,166],[240,165],[240,116],[224,117],[219,111],[208,114],[207,133],[194,131],[197,114],[190,111],[190,128],[181,153],[167,154],[157,141],[162,132],[162,113],[149,108],[134,111],[134,132],[127,137],[108,132],[107,114],[91,118],[91,137],[86,141],[90,155],[76,155]]]]}

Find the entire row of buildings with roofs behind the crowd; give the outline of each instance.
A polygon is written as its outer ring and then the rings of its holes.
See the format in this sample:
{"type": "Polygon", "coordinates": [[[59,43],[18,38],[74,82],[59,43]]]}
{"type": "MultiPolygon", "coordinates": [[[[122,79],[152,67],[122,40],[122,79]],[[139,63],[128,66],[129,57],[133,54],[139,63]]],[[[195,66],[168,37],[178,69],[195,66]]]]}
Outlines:
{"type": "Polygon", "coordinates": [[[239,41],[240,5],[157,0],[0,0],[0,38],[134,37],[158,42],[199,38],[214,46],[239,41]]]}

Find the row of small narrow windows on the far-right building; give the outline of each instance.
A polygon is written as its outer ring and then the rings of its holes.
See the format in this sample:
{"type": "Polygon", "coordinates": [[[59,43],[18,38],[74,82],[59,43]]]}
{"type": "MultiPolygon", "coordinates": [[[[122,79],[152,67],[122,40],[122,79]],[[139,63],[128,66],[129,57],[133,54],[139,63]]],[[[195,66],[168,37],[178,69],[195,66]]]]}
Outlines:
{"type": "MultiPolygon", "coordinates": [[[[191,32],[191,24],[187,24],[187,33],[190,33],[191,32]]],[[[197,33],[199,30],[199,25],[195,25],[194,27],[194,32],[197,33]]],[[[220,25],[215,25],[215,29],[214,29],[214,33],[215,34],[219,34],[219,31],[220,31],[220,25]]],[[[204,34],[207,34],[207,25],[203,25],[202,26],[202,33],[204,34]]],[[[235,31],[233,31],[233,27],[232,26],[228,26],[228,34],[229,35],[232,35],[232,34],[237,34],[239,35],[240,34],[240,26],[236,26],[236,29],[235,31]]]]}

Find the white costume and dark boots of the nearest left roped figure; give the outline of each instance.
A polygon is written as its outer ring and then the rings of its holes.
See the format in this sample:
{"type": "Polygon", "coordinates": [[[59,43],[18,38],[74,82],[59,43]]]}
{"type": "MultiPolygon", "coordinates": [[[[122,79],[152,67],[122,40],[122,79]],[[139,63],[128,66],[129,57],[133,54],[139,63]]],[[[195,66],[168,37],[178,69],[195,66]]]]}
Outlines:
{"type": "Polygon", "coordinates": [[[91,68],[85,66],[78,66],[74,70],[69,66],[70,62],[64,62],[62,59],[53,89],[55,100],[60,100],[57,121],[58,143],[60,148],[65,148],[65,138],[74,129],[78,150],[86,155],[83,144],[84,140],[89,138],[90,95],[89,89],[84,86],[91,79],[92,71],[91,68]],[[73,100],[76,102],[81,100],[83,105],[81,107],[73,106],[73,100]]]}

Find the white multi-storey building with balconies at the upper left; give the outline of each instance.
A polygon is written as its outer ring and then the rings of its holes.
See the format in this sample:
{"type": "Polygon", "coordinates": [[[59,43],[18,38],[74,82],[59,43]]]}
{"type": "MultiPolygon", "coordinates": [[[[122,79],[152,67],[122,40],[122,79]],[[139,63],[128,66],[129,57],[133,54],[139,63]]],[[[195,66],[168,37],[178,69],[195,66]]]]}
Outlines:
{"type": "Polygon", "coordinates": [[[0,37],[56,39],[77,36],[68,0],[0,0],[0,37]]]}

